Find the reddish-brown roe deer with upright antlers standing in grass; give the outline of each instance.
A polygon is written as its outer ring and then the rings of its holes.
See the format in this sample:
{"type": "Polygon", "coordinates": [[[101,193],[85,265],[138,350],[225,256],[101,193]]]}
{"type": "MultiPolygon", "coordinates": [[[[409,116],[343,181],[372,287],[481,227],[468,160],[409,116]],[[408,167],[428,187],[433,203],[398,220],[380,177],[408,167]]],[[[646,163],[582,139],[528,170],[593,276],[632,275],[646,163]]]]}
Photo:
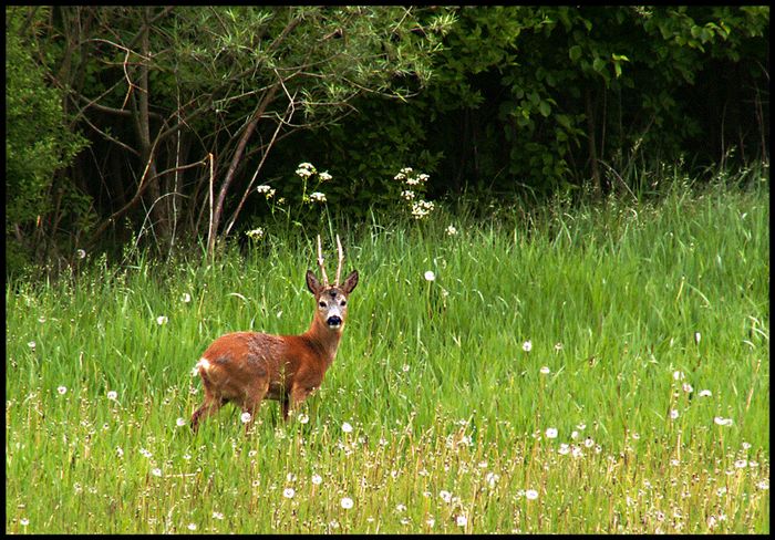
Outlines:
{"type": "Polygon", "coordinates": [[[353,271],[340,284],[342,243],[337,235],[339,268],[337,281],[329,284],[318,235],[318,266],[323,282],[307,271],[307,287],[314,294],[312,323],[301,335],[271,335],[234,332],[210,344],[196,364],[205,386],[205,402],[192,416],[192,428],[228,402],[249,413],[246,432],[252,425],[261,401],[279,401],[282,417],[320,386],[333,362],[348,313],[348,297],[358,284],[353,271]]]}

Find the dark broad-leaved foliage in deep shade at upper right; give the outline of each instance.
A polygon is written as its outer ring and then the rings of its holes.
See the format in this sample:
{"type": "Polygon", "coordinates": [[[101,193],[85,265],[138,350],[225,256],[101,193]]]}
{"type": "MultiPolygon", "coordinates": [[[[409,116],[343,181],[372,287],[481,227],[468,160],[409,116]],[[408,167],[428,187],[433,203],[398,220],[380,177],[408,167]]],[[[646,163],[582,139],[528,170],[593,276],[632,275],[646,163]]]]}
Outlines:
{"type": "MultiPolygon", "coordinates": [[[[756,85],[767,84],[768,8],[450,10],[455,24],[425,92],[400,112],[374,112],[365,103],[362,117],[310,137],[328,155],[347,148],[348,165],[354,159],[359,170],[353,193],[378,198],[390,178],[385,169],[420,160],[445,179],[443,193],[468,186],[551,194],[583,186],[592,160],[620,174],[643,156],[676,160],[689,154],[709,164],[730,139],[766,158],[758,135],[766,137],[768,104],[757,97],[756,85]],[[738,94],[724,94],[715,75],[731,70],[743,70],[742,91],[758,100],[763,115],[738,94]],[[720,126],[727,105],[740,113],[720,126]],[[710,145],[709,132],[716,134],[710,145]]],[[[603,170],[608,188],[617,187],[603,170]]]]}

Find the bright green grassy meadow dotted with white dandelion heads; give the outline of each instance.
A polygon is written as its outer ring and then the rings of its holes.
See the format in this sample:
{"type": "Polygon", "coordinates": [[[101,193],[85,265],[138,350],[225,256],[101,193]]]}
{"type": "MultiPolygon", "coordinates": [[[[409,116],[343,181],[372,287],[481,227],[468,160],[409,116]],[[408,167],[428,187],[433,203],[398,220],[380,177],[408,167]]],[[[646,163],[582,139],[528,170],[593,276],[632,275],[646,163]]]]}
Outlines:
{"type": "Polygon", "coordinates": [[[319,231],[8,282],[6,531],[769,532],[768,198],[340,229],[337,360],[247,436],[231,405],[192,434],[192,368],[223,333],[307,330],[319,231]]]}

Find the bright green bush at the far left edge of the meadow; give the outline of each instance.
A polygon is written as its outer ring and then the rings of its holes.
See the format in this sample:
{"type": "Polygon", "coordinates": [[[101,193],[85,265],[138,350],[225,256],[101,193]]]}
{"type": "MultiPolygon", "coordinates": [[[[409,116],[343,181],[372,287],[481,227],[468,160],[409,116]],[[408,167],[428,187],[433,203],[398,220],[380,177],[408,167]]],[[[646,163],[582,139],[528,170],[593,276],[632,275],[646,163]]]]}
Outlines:
{"type": "MultiPolygon", "coordinates": [[[[73,134],[62,108],[62,94],[49,85],[33,59],[33,43],[22,37],[19,8],[6,8],[6,272],[33,260],[35,229],[56,198],[78,218],[87,210],[68,178],[56,173],[85,146],[73,134]],[[55,179],[61,185],[54,185],[55,179]]],[[[43,17],[39,13],[38,18],[43,17]]]]}

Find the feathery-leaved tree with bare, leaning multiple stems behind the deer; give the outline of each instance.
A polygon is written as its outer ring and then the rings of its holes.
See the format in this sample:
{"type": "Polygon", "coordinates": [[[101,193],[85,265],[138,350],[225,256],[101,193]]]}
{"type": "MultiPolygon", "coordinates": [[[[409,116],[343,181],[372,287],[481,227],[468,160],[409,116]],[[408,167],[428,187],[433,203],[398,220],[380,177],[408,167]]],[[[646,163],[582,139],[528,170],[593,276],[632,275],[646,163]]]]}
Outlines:
{"type": "Polygon", "coordinates": [[[400,7],[55,10],[50,70],[107,156],[82,164],[111,178],[93,236],[130,218],[169,245],[206,231],[210,251],[276,144],[364,93],[415,93],[451,23],[400,7]]]}

